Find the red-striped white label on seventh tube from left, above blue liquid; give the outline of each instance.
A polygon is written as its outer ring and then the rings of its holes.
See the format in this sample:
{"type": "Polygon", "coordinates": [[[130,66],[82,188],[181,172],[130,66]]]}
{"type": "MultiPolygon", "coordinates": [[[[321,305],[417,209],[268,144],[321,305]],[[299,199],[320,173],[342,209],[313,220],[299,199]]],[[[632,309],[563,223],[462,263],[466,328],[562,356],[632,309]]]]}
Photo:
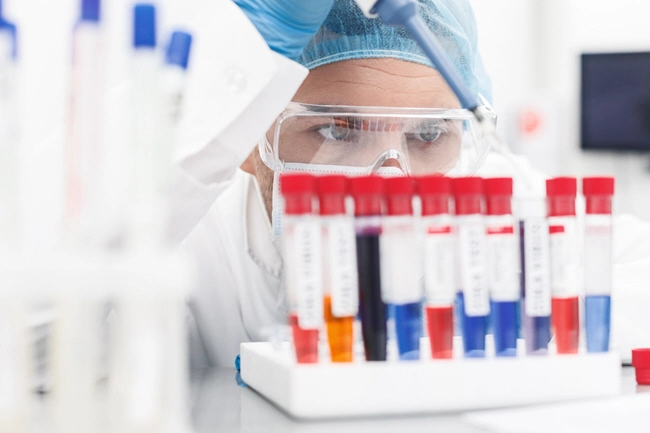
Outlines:
{"type": "Polygon", "coordinates": [[[519,299],[519,254],[512,226],[488,229],[488,282],[494,301],[519,299]]]}

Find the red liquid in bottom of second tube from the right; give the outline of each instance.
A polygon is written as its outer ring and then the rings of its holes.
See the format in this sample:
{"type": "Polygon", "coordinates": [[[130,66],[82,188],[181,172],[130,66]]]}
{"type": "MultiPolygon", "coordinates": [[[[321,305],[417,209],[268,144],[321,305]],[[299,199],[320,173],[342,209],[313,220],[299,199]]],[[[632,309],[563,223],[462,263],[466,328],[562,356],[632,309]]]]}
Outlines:
{"type": "Polygon", "coordinates": [[[553,329],[557,353],[578,353],[580,339],[580,312],[577,296],[571,298],[553,298],[553,329]]]}

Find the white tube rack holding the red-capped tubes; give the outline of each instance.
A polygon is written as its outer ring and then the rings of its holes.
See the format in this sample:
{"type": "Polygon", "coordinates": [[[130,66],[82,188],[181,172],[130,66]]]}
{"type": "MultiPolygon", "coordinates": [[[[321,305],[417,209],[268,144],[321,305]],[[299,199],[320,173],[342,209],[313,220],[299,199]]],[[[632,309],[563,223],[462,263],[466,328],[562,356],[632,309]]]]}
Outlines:
{"type": "MultiPolygon", "coordinates": [[[[428,341],[421,340],[422,356],[428,341]]],[[[241,345],[241,376],[298,419],[437,414],[613,396],[616,352],[297,364],[289,343],[241,345]]]]}

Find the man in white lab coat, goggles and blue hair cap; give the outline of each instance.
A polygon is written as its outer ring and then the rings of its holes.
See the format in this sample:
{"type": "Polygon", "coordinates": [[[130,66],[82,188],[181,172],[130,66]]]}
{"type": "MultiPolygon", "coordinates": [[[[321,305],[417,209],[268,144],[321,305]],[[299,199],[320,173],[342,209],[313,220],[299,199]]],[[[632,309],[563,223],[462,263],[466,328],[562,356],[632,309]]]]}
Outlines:
{"type": "MultiPolygon", "coordinates": [[[[469,0],[419,3],[489,112],[490,81],[469,0]]],[[[479,169],[488,147],[463,133],[471,116],[408,34],[365,17],[353,0],[206,2],[192,31],[176,236],[199,271],[190,304],[192,363],[232,366],[240,343],[263,340],[286,322],[280,173],[465,174],[479,169]],[[399,133],[377,140],[377,128],[355,127],[343,114],[372,119],[371,107],[393,110],[403,120],[399,133]]],[[[513,174],[490,159],[483,174],[513,174]]],[[[623,224],[626,233],[650,235],[631,218],[623,224]]],[[[650,251],[634,234],[618,239],[613,308],[615,321],[626,309],[618,330],[629,335],[641,332],[641,312],[628,311],[639,308],[639,286],[626,269],[643,275],[650,251]]]]}

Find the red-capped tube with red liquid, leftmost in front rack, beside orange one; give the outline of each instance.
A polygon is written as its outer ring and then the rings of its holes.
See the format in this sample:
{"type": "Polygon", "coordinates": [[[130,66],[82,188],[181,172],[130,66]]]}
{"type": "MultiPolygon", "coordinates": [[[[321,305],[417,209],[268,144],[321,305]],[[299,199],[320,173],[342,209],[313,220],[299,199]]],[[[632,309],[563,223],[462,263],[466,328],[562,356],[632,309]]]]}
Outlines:
{"type": "Polygon", "coordinates": [[[323,324],[321,228],[313,215],[315,178],[280,177],[284,197],[282,258],[289,324],[298,363],[318,362],[318,330],[323,324]]]}

